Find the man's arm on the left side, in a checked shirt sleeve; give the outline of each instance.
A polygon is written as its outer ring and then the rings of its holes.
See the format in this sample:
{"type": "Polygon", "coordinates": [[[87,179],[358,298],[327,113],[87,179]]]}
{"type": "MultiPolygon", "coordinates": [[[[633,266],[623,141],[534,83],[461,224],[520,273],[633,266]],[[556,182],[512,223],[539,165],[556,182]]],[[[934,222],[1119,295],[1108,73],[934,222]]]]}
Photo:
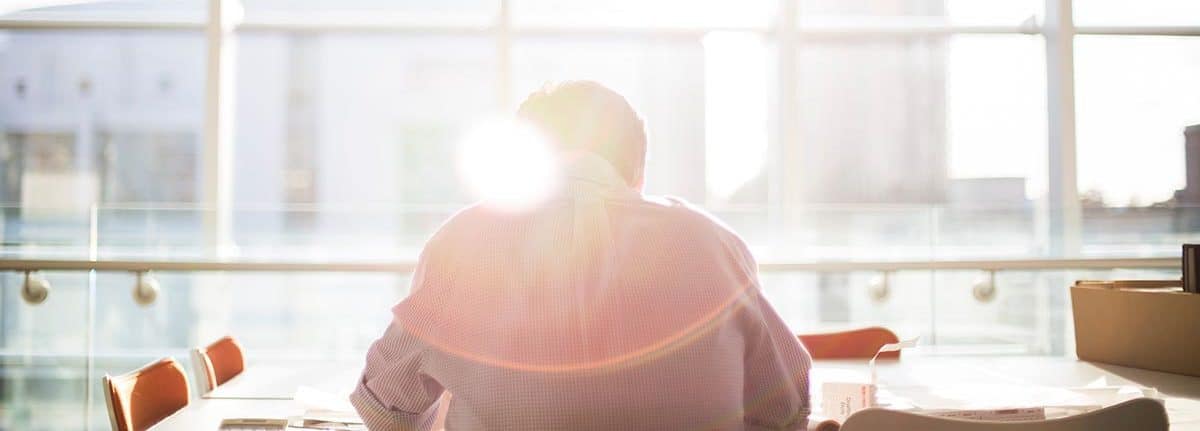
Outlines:
{"type": "Polygon", "coordinates": [[[422,351],[420,340],[398,322],[371,345],[350,403],[372,431],[433,427],[443,388],[422,370],[422,351]]]}

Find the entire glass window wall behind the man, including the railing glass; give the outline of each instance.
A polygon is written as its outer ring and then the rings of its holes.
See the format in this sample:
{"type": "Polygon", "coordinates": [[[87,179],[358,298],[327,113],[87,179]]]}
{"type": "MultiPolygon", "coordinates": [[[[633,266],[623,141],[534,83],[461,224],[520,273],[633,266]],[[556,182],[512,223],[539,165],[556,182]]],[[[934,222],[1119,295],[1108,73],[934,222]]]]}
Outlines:
{"type": "MultiPolygon", "coordinates": [[[[1050,245],[1072,228],[1084,257],[1200,241],[1195,1],[1073,1],[1079,220],[1050,220],[1066,211],[1046,198],[1063,174],[1048,163],[1063,94],[1048,76],[1063,71],[1046,67],[1044,0],[240,4],[221,208],[235,261],[404,267],[476,198],[463,138],[568,79],[628,97],[648,128],[646,191],[738,232],[797,331],[883,324],[972,352],[1069,352],[1063,286],[1175,275],[881,261],[1068,257],[1050,245]],[[1096,35],[1114,28],[1175,36],[1096,35]]],[[[208,10],[0,7],[20,22],[0,28],[0,258],[211,258],[208,10]]],[[[409,275],[163,271],[149,306],[125,271],[43,276],[56,287],[31,305],[24,274],[0,274],[0,429],[102,427],[98,373],[224,333],[258,358],[361,351],[409,275]]]]}

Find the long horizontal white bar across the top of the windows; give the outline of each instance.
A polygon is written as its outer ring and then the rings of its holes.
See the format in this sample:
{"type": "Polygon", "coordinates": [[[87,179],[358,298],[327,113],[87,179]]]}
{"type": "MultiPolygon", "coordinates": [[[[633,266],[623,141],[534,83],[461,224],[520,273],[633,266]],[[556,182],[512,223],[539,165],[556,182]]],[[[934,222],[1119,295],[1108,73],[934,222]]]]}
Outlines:
{"type": "MultiPolygon", "coordinates": [[[[542,20],[546,20],[542,18],[542,20]]],[[[455,17],[450,13],[414,13],[386,11],[320,11],[319,13],[257,12],[238,24],[245,31],[384,31],[384,32],[463,32],[496,31],[497,17],[478,14],[455,17]]],[[[0,17],[0,29],[42,30],[203,30],[203,11],[138,13],[90,12],[64,13],[25,11],[0,17]]],[[[524,35],[688,35],[709,31],[776,32],[773,25],[658,25],[554,22],[522,22],[511,24],[515,34],[524,35]]],[[[954,34],[1040,34],[1042,25],[1031,17],[1021,23],[952,23],[944,17],[842,17],[805,16],[797,23],[802,36],[839,35],[954,35],[954,34]]],[[[1200,25],[1075,25],[1082,35],[1128,36],[1200,36],[1200,25]]]]}

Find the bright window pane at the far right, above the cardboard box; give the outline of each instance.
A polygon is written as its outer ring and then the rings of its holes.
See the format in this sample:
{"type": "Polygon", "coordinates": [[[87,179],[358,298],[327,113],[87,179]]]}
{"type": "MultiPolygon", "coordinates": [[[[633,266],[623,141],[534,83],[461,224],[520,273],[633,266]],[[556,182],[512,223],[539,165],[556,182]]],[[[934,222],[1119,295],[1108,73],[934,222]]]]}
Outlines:
{"type": "Polygon", "coordinates": [[[1080,190],[1144,206],[1183,188],[1183,130],[1200,124],[1200,40],[1079,36],[1075,71],[1080,190]]]}

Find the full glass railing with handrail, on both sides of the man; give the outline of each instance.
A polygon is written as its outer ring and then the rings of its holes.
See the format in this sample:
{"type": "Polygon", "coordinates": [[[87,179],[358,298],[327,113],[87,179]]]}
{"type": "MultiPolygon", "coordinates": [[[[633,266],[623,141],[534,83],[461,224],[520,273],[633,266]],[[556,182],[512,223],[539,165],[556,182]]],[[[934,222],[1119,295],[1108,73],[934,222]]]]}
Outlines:
{"type": "MultiPolygon", "coordinates": [[[[40,304],[22,297],[24,271],[0,273],[0,429],[107,429],[101,376],[163,355],[186,363],[188,348],[224,334],[242,341],[252,363],[360,358],[388,324],[389,305],[407,295],[409,274],[337,264],[407,268],[456,209],[235,209],[232,241],[217,250],[196,208],[5,208],[0,261],[84,269],[36,273],[50,286],[40,304]],[[152,271],[161,289],[139,305],[136,271],[144,268],[86,270],[90,261],[217,264],[152,271]],[[222,270],[221,262],[325,267],[222,270]]],[[[1188,217],[1200,211],[1085,210],[1074,263],[1045,252],[1042,225],[1025,208],[714,214],[755,249],[766,297],[798,333],[878,324],[943,353],[1058,355],[1074,349],[1066,287],[1079,279],[1178,277],[1163,258],[1198,240],[1188,217]],[[948,264],[962,261],[988,264],[948,264]],[[838,265],[845,262],[856,265],[838,265]]]]}

